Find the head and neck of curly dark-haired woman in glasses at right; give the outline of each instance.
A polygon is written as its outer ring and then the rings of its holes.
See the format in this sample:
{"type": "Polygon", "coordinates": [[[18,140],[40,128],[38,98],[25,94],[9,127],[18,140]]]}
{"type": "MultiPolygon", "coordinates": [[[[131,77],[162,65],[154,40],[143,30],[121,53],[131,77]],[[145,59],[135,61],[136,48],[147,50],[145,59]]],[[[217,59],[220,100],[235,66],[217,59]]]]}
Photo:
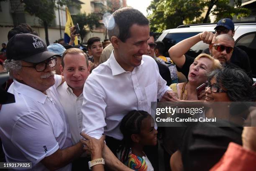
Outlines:
{"type": "Polygon", "coordinates": [[[205,102],[215,102],[205,111],[205,117],[218,117],[242,125],[250,104],[238,102],[255,100],[256,88],[243,70],[230,67],[217,69],[209,75],[205,87],[205,102]]]}

